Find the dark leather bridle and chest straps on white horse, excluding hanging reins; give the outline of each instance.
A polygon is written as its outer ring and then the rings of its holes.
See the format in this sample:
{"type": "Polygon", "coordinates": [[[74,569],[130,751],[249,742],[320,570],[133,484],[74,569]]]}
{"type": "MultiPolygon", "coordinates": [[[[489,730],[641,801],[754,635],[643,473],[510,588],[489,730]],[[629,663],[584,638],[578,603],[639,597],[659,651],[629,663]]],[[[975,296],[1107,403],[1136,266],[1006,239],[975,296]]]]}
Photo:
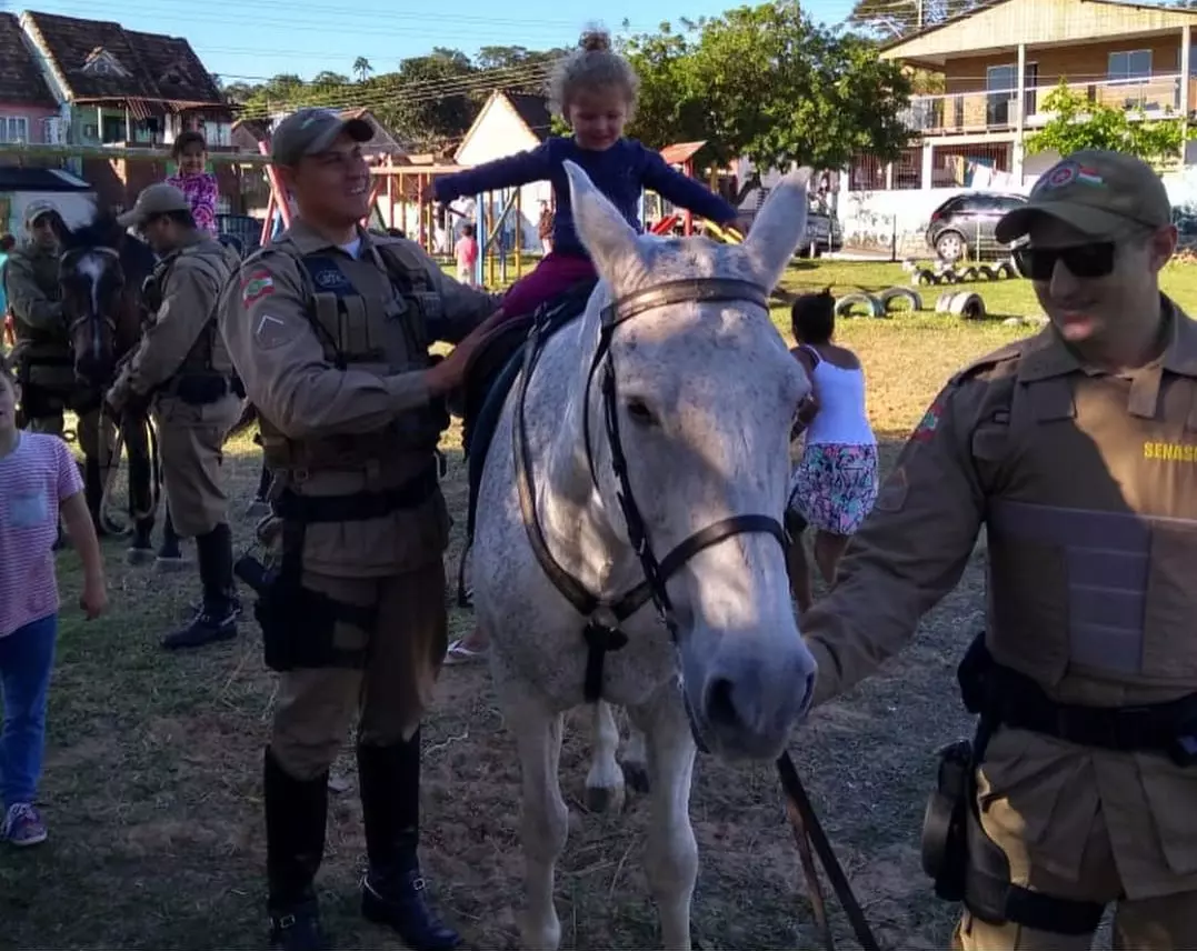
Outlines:
{"type": "MultiPolygon", "coordinates": [[[[633,291],[607,304],[600,312],[598,345],[590,362],[585,392],[583,394],[585,401],[583,432],[587,463],[590,468],[591,483],[597,489],[598,482],[590,438],[590,389],[595,376],[601,372],[603,423],[610,446],[612,468],[619,486],[616,498],[624,513],[628,541],[636,551],[636,556],[640,562],[640,571],[644,574],[644,580],[636,585],[636,587],[614,599],[603,598],[587,590],[578,579],[565,571],[548,550],[548,544],[540,526],[531,480],[533,467],[528,449],[524,403],[527,401],[529,380],[543,352],[546,341],[545,331],[548,327],[548,321],[546,319],[547,309],[542,309],[536,315],[528,335],[523,368],[519,376],[518,396],[515,404],[515,420],[511,427],[516,484],[519,492],[519,510],[523,516],[524,529],[528,532],[528,541],[531,543],[533,551],[541,568],[548,575],[553,586],[585,618],[587,624],[583,634],[588,647],[584,684],[587,702],[596,702],[602,696],[603,660],[609,651],[618,651],[627,644],[627,635],[621,630],[620,624],[644,604],[650,601],[652,602],[658,618],[669,630],[669,635],[676,646],[678,622],[666,585],[698,553],[736,535],[757,532],[772,535],[783,548],[789,543],[785,528],[778,518],[765,514],[737,514],[719,519],[700,529],[679,543],[663,559],[657,559],[652,550],[652,542],[649,538],[648,526],[640,514],[639,506],[636,504],[636,496],[632,494],[627,456],[624,452],[624,444],[619,432],[619,400],[615,366],[610,352],[612,337],[619,327],[648,311],[668,307],[674,304],[707,304],[716,301],[745,303],[766,311],[768,310],[767,293],[752,281],[729,278],[693,278],[633,291]]],[[[705,744],[695,727],[693,711],[689,709],[688,705],[687,713],[691,718],[694,740],[699,749],[705,751],[705,744]]]]}

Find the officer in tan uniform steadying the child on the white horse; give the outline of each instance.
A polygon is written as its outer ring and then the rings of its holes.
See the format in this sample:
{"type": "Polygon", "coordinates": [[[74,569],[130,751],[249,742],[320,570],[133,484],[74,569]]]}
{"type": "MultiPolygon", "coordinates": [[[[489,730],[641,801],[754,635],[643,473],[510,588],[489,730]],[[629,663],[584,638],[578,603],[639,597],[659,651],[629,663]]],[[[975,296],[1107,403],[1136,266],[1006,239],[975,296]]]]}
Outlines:
{"type": "Polygon", "coordinates": [[[499,298],[449,280],[413,242],[359,227],[371,134],[320,109],[279,126],[272,159],[298,215],[242,264],[220,309],[281,519],[278,567],[255,585],[266,662],[282,673],[265,792],[272,940],[287,951],[327,946],[312,879],[354,712],[363,914],[417,951],[460,941],[430,909],[417,856],[419,725],[446,646],[436,449],[444,396],[499,298]],[[432,364],[433,340],[458,346],[432,364]]]}

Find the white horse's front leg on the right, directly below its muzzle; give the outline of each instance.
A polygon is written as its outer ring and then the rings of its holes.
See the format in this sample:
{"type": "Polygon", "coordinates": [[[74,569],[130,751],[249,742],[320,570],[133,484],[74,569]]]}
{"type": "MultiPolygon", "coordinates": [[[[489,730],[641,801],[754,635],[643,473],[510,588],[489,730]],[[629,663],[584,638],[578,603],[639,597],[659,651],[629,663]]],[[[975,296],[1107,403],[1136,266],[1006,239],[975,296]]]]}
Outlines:
{"type": "Polygon", "coordinates": [[[652,819],[644,871],[661,916],[661,941],[667,951],[689,951],[689,904],[698,878],[698,843],[689,823],[694,739],[672,683],[627,713],[644,731],[648,754],[652,819]]]}

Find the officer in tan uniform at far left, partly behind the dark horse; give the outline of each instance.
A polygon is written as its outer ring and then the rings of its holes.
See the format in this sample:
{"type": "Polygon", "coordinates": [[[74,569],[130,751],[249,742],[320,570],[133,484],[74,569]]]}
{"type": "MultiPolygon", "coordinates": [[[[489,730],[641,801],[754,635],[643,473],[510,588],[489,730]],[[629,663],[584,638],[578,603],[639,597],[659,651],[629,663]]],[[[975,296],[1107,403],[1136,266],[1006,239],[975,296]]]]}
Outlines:
{"type": "Polygon", "coordinates": [[[87,395],[79,392],[75,380],[59,285],[57,228],[62,218],[53,202],[31,201],[25,208],[25,227],[29,240],[10,255],[4,278],[17,337],[12,359],[22,386],[22,413],[34,432],[62,435],[63,413],[77,409],[79,445],[86,458],[87,508],[97,534],[103,535],[99,504],[116,429],[103,419],[98,394],[85,400],[87,395]]]}

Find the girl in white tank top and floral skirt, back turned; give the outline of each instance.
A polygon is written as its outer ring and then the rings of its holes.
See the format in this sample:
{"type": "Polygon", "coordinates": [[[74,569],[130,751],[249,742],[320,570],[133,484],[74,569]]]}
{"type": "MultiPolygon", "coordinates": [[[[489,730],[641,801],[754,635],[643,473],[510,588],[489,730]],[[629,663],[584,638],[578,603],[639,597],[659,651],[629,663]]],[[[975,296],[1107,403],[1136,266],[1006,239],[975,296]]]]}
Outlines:
{"type": "Polygon", "coordinates": [[[800,414],[806,445],[790,481],[788,522],[790,586],[798,610],[812,603],[810,569],[798,536],[815,528],[815,563],[822,579],[836,577],[847,539],[877,498],[877,440],[864,409],[864,371],[850,349],[832,343],[836,300],[831,291],[803,294],[790,311],[797,347],[790,350],[814,384],[800,414]]]}

